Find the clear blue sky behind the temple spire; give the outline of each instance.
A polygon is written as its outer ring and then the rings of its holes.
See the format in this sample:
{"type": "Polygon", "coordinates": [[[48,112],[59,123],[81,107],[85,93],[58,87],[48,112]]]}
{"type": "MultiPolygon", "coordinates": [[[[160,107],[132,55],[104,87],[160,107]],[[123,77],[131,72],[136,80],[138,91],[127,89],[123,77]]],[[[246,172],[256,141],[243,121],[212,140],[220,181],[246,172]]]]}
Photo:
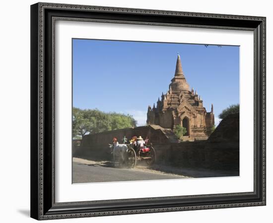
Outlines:
{"type": "Polygon", "coordinates": [[[72,40],[73,107],[132,114],[145,124],[148,105],[165,94],[177,53],[190,88],[206,111],[239,103],[239,47],[105,40],[72,40]]]}

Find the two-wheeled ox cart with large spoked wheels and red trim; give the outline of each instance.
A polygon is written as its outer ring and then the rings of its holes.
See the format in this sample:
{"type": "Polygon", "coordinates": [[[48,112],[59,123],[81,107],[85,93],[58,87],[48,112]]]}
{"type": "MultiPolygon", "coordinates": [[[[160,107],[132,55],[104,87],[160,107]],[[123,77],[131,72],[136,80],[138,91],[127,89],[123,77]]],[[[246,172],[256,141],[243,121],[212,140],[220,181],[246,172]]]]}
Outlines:
{"type": "Polygon", "coordinates": [[[119,157],[115,156],[114,145],[109,144],[112,148],[112,154],[114,155],[114,162],[118,162],[119,166],[135,168],[137,163],[145,162],[148,166],[152,166],[155,162],[155,150],[152,147],[152,144],[146,146],[144,148],[139,148],[137,146],[133,146],[133,144],[122,144],[127,147],[126,155],[123,159],[119,159],[119,157]]]}

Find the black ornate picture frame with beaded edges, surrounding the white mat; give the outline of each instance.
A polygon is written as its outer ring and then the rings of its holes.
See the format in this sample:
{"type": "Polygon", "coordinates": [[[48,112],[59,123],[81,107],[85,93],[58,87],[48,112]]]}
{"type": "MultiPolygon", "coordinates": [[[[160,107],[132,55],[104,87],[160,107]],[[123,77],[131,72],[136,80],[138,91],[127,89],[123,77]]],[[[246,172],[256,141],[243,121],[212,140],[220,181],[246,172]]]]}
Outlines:
{"type": "Polygon", "coordinates": [[[266,18],[89,5],[31,5],[31,217],[37,220],[266,205],[266,18]],[[254,191],[56,203],[55,21],[254,31],[254,191]]]}

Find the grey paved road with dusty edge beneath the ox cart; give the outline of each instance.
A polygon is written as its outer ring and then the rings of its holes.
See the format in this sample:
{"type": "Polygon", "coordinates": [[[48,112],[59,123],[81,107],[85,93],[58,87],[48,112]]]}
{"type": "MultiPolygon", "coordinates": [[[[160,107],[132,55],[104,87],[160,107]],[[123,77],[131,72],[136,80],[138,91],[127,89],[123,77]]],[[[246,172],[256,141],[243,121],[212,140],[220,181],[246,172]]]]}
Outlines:
{"type": "Polygon", "coordinates": [[[117,168],[111,162],[73,160],[73,183],[113,182],[128,180],[178,179],[187,176],[165,173],[147,167],[117,168]]]}

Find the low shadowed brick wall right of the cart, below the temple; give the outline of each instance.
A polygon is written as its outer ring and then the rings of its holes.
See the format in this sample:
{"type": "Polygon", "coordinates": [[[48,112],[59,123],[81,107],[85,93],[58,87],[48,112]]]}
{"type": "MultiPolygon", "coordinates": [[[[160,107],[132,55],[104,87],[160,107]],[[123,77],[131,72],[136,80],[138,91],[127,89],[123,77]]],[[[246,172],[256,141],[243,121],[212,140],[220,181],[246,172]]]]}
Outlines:
{"type": "Polygon", "coordinates": [[[154,145],[154,148],[157,164],[239,170],[239,142],[182,142],[154,145]]]}

